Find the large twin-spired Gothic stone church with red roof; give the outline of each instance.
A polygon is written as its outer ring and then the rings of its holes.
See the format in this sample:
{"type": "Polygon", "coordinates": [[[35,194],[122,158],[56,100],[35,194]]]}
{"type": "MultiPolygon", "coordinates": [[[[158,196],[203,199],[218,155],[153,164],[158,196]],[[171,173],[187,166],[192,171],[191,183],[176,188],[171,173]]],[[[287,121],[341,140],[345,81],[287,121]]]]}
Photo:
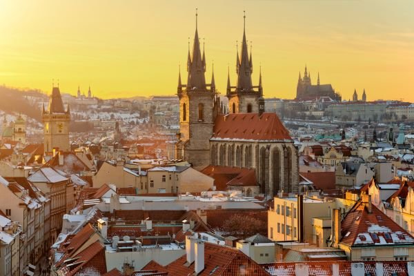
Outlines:
{"type": "Polygon", "coordinates": [[[225,108],[218,97],[214,72],[206,83],[206,55],[204,50],[201,54],[196,14],[193,51],[188,49],[187,83],[181,83],[181,73],[178,79],[180,132],[176,157],[197,170],[209,165],[255,169],[261,193],[295,193],[299,183],[297,149],[279,117],[264,112],[262,73],[253,86],[253,59],[245,29],[241,50],[237,50],[235,86],[231,86],[228,72],[225,108]]]}

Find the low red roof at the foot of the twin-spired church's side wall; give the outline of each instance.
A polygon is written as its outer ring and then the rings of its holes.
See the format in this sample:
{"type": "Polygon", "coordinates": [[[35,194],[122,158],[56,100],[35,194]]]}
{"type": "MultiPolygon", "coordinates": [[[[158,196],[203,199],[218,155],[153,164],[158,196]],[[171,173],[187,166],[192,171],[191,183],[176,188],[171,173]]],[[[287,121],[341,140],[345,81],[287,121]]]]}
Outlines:
{"type": "Polygon", "coordinates": [[[213,177],[216,190],[228,190],[228,186],[256,186],[255,169],[225,166],[207,166],[201,172],[213,177]]]}

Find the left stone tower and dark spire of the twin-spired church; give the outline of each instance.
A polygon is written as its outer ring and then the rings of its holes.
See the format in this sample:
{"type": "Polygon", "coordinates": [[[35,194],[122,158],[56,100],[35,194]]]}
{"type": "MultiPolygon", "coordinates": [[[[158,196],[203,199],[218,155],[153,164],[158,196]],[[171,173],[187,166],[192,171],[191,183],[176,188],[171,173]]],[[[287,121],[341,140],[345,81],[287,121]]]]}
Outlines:
{"type": "Polygon", "coordinates": [[[213,135],[220,101],[215,90],[214,72],[211,83],[206,83],[206,54],[203,49],[201,55],[197,16],[196,12],[192,54],[188,43],[187,83],[181,83],[181,72],[178,77],[180,132],[177,134],[176,158],[202,169],[210,164],[209,139],[213,135]]]}

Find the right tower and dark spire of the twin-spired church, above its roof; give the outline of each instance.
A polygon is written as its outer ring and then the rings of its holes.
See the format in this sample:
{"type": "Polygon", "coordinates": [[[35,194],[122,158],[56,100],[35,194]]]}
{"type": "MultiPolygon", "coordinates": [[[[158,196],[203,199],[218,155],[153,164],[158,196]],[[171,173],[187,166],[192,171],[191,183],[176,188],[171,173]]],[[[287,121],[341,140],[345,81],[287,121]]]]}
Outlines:
{"type": "MultiPolygon", "coordinates": [[[[230,85],[230,75],[227,77],[227,97],[229,113],[257,113],[259,112],[259,98],[263,97],[262,82],[258,86],[252,84],[253,59],[250,57],[246,41],[246,14],[244,15],[242,51],[237,49],[236,55],[237,86],[230,85]]],[[[262,79],[260,72],[259,79],[262,79]]]]}

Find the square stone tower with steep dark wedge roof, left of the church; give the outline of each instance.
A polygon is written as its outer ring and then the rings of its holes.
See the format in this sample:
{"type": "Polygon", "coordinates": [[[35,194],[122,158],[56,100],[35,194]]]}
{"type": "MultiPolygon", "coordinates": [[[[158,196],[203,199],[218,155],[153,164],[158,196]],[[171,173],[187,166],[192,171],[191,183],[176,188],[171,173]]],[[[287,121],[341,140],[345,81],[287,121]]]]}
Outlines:
{"type": "Polygon", "coordinates": [[[45,152],[51,152],[54,148],[70,150],[70,110],[69,106],[66,110],[63,106],[59,86],[52,89],[49,110],[45,110],[43,106],[42,119],[45,152]]]}

